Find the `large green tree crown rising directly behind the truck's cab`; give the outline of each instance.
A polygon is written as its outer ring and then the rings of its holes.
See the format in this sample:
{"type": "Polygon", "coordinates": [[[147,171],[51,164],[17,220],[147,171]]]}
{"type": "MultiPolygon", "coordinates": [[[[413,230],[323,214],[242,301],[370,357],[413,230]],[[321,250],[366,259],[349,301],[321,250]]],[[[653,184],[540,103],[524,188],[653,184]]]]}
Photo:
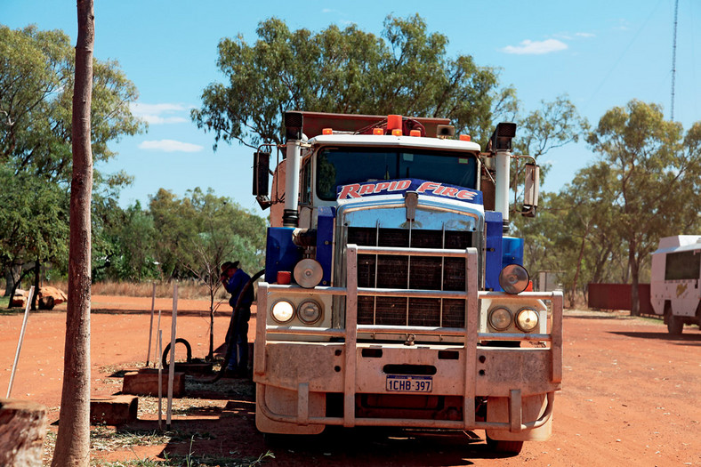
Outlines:
{"type": "Polygon", "coordinates": [[[470,55],[447,56],[447,36],[429,33],[418,15],[388,16],[383,37],[335,25],[314,34],[283,20],[262,21],[258,41],[224,38],[217,65],[226,84],[208,85],[199,128],[219,141],[255,147],[282,141],[286,110],[448,117],[477,141],[490,134],[494,114],[515,111],[511,88],[500,89],[493,68],[470,55]]]}

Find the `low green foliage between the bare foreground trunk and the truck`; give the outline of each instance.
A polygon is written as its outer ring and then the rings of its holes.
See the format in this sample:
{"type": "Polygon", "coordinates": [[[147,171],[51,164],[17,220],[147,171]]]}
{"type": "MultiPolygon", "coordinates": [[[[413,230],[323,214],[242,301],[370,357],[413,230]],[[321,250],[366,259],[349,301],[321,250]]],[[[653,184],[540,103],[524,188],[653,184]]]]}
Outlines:
{"type": "Polygon", "coordinates": [[[222,262],[262,267],[265,221],[211,189],[189,190],[182,198],[159,189],[148,209],[137,202],[123,210],[111,197],[97,201],[93,280],[196,278],[214,296],[222,262]]]}

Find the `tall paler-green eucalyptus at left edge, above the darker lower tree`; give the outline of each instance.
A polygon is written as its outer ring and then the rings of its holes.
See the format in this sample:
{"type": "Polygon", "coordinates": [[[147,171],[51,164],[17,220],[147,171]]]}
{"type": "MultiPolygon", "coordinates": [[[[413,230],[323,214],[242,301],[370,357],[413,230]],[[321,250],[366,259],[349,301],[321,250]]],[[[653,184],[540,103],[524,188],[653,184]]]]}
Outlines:
{"type": "MultiPolygon", "coordinates": [[[[115,156],[109,149],[110,141],[138,133],[145,124],[129,110],[129,103],[137,99],[138,93],[117,62],[91,58],[91,66],[89,136],[93,160],[101,162],[115,156]]],[[[62,31],[0,26],[0,165],[9,177],[33,177],[55,185],[66,197],[73,167],[71,115],[75,71],[75,49],[62,31]]],[[[94,180],[96,189],[105,184],[117,187],[127,181],[123,173],[95,173],[94,180]]],[[[39,223],[42,215],[29,211],[22,222],[34,222],[34,229],[47,229],[50,226],[45,222],[39,223]]],[[[68,216],[61,220],[66,229],[67,220],[68,216]]],[[[16,227],[2,226],[8,231],[16,227]]],[[[56,238],[57,243],[60,241],[60,237],[56,238]]],[[[12,257],[15,261],[5,261],[0,264],[2,268],[27,261],[22,258],[23,246],[19,243],[0,248],[0,258],[12,257]]]]}

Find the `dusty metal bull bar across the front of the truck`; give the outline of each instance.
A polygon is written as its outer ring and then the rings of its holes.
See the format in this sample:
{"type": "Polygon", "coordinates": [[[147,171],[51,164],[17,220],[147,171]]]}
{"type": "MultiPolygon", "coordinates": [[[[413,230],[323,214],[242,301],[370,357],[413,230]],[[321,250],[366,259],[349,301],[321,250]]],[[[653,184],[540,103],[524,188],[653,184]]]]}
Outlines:
{"type": "MultiPolygon", "coordinates": [[[[297,414],[277,414],[270,410],[265,400],[265,384],[261,384],[261,392],[258,398],[258,407],[262,415],[270,420],[282,423],[295,423],[301,425],[324,424],[342,425],[345,427],[372,425],[372,426],[397,426],[397,427],[429,427],[435,429],[490,429],[508,430],[519,432],[535,429],[547,423],[552,416],[554,403],[554,391],[546,393],[547,406],[544,413],[536,420],[523,421],[521,417],[522,398],[521,391],[512,389],[509,391],[510,421],[507,422],[477,422],[475,420],[476,397],[476,371],[472,367],[477,359],[477,344],[479,341],[537,341],[550,342],[551,377],[550,382],[559,384],[562,380],[562,294],[560,292],[533,293],[525,292],[518,295],[504,294],[500,292],[485,292],[478,289],[477,276],[477,249],[442,250],[429,248],[410,247],[382,247],[382,246],[356,246],[348,245],[346,248],[346,286],[329,287],[317,286],[313,289],[299,286],[280,286],[262,283],[258,288],[258,314],[256,323],[256,342],[254,347],[254,381],[260,382],[266,374],[266,353],[264,342],[267,342],[268,334],[295,334],[295,335],[321,335],[325,337],[342,338],[342,346],[345,348],[345,368],[343,374],[343,416],[310,416],[308,382],[299,382],[297,390],[297,414]],[[388,254],[409,256],[443,256],[465,258],[465,291],[439,291],[439,290],[407,290],[358,287],[358,254],[388,254]],[[286,294],[330,294],[346,297],[346,314],[344,328],[319,328],[305,326],[268,326],[268,292],[285,291],[286,294]],[[477,293],[474,293],[477,291],[477,293]],[[464,299],[466,302],[465,327],[433,327],[433,326],[377,326],[358,325],[358,297],[359,296],[397,296],[415,298],[451,298],[464,299]],[[498,298],[502,302],[518,302],[523,297],[536,300],[549,300],[552,302],[552,327],[550,334],[526,334],[526,333],[477,333],[479,299],[498,298]],[[356,398],[356,368],[357,368],[357,344],[359,333],[384,333],[384,334],[423,334],[439,336],[462,336],[464,339],[463,352],[465,356],[465,378],[463,393],[463,420],[434,420],[434,419],[409,419],[409,418],[377,418],[355,416],[356,398]],[[262,397],[261,397],[262,396],[262,397]]],[[[516,350],[518,351],[518,350],[516,350]]]]}

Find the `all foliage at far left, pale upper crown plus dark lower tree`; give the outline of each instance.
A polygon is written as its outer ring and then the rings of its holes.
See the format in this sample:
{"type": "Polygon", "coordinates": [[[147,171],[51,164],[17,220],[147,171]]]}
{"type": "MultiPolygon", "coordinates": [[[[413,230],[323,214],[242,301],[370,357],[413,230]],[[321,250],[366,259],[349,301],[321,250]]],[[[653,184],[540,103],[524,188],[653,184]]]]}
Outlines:
{"type": "MultiPolygon", "coordinates": [[[[8,233],[0,241],[0,269],[39,260],[65,270],[68,263],[74,60],[62,31],[0,26],[0,225],[8,233]]],[[[114,157],[109,141],[145,129],[128,107],[136,98],[117,62],[93,60],[95,161],[114,157]]],[[[128,181],[123,173],[94,173],[96,209],[104,210],[128,181]],[[109,191],[107,199],[102,191],[109,191]]],[[[101,221],[95,227],[95,237],[104,235],[101,221]]]]}

